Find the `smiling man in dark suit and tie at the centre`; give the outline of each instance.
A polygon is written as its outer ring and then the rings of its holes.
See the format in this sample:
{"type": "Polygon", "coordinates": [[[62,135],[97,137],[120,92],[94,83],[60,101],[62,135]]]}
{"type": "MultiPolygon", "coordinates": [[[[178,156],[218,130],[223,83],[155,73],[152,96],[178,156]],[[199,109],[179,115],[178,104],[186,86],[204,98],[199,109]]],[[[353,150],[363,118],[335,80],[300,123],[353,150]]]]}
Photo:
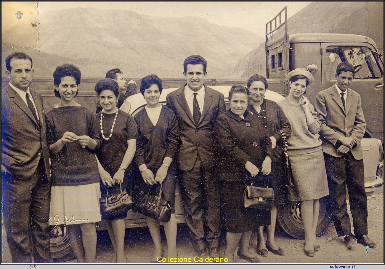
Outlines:
{"type": "Polygon", "coordinates": [[[218,248],[219,182],[214,177],[214,122],[226,111],[224,96],[203,84],[207,62],[199,55],[184,60],[187,84],[167,95],[181,130],[178,164],[182,176],[182,198],[192,245],[199,257],[221,257],[218,248]],[[208,231],[205,238],[204,220],[208,231]]]}

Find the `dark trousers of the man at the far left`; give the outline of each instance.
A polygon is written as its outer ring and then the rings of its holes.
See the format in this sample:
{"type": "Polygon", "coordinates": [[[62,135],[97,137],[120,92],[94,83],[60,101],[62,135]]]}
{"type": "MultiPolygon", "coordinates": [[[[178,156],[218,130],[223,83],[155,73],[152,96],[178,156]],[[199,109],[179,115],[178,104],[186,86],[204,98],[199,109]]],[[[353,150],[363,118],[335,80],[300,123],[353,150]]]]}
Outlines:
{"type": "Polygon", "coordinates": [[[2,172],[3,221],[13,263],[30,263],[32,257],[34,262],[52,262],[50,194],[43,158],[27,180],[2,172]]]}

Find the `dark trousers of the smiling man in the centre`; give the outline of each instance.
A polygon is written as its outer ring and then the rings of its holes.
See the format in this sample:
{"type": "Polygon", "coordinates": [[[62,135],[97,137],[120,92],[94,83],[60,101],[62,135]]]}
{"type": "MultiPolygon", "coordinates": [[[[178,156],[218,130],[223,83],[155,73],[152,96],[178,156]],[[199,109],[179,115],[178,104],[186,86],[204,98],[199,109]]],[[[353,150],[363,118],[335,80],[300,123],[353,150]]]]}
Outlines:
{"type": "Polygon", "coordinates": [[[181,177],[184,216],[190,229],[194,250],[198,252],[206,249],[206,244],[209,248],[218,247],[221,214],[219,181],[214,177],[213,171],[204,169],[199,155],[191,170],[181,171],[181,177]],[[204,220],[208,227],[206,242],[204,220]]]}

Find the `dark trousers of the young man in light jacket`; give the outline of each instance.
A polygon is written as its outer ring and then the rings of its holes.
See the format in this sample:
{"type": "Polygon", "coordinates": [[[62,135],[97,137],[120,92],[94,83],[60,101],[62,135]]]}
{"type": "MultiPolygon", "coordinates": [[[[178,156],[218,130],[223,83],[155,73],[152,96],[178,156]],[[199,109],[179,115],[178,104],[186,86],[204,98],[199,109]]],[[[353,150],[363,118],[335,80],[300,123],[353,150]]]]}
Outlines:
{"type": "Polygon", "coordinates": [[[356,160],[350,151],[339,158],[327,153],[323,155],[329,183],[329,213],[338,236],[352,232],[346,204],[346,187],[349,193],[354,234],[368,234],[363,160],[356,160]]]}

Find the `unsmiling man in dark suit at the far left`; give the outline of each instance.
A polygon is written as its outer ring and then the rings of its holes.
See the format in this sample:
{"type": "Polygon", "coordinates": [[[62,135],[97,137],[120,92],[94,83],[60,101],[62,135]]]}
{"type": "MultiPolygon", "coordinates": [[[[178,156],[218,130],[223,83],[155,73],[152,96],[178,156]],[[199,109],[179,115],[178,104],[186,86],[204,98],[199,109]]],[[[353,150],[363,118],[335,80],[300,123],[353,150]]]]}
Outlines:
{"type": "Polygon", "coordinates": [[[5,59],[9,84],[2,90],[3,221],[12,262],[52,262],[50,256],[49,152],[41,96],[30,89],[32,59],[5,59]]]}

